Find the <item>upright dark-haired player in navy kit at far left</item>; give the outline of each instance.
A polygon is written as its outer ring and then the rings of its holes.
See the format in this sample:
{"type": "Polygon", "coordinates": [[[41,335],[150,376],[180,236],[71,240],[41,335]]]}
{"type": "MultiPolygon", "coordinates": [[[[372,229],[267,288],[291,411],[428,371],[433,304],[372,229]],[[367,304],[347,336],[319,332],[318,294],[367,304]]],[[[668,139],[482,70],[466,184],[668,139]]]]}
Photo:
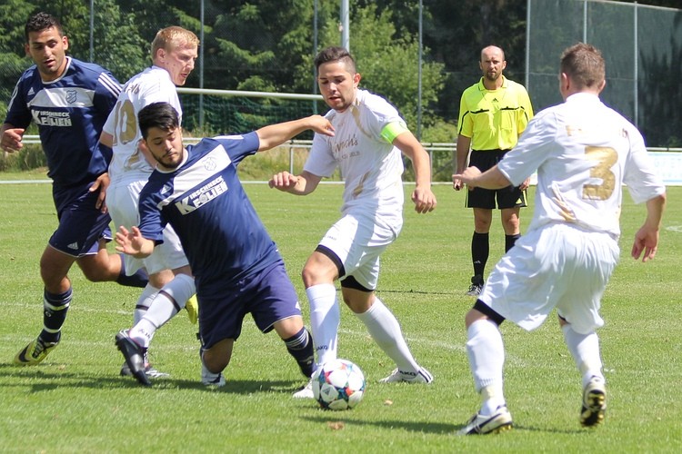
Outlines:
{"type": "Polygon", "coordinates": [[[15,364],[34,365],[60,341],[72,299],[67,272],[74,262],[90,281],[144,287],[146,275],[126,276],[121,256],[110,255],[105,248],[111,241],[111,219],[104,203],[111,151],[101,148],[98,139],[120,85],[101,66],[66,56],[68,38],[54,16],[31,16],[25,39],[25,52],[35,65],[15,86],[0,145],[6,152],[18,151],[25,128],[35,122],[59,219],[40,260],[45,284],[43,331],[15,356],[15,364]]]}

